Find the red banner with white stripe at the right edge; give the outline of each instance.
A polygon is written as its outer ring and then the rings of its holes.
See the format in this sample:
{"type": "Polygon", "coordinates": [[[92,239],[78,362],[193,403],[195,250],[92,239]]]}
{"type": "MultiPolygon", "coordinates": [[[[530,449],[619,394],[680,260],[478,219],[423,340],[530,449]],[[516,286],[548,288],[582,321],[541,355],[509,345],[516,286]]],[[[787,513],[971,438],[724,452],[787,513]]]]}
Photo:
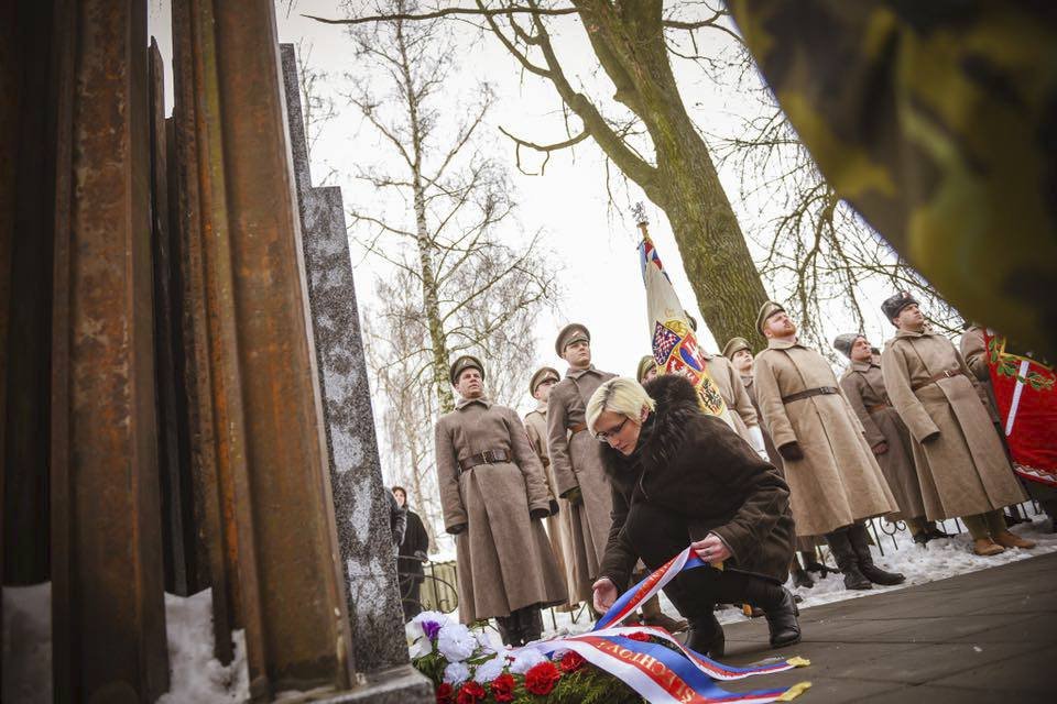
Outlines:
{"type": "Polygon", "coordinates": [[[1018,476],[1057,487],[1057,372],[984,333],[991,387],[1018,476]]]}

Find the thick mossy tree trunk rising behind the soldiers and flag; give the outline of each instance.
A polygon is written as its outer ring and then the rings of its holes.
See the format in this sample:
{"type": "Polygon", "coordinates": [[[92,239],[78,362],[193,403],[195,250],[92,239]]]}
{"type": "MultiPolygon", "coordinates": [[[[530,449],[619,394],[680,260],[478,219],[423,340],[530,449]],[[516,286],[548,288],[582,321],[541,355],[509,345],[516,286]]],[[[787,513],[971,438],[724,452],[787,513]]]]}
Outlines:
{"type": "MultiPolygon", "coordinates": [[[[617,87],[614,98],[642,120],[656,153],[654,168],[622,166],[622,170],[667,216],[717,344],[740,336],[759,350],[765,340],[755,329],[755,318],[767,293],[708,145],[683,105],[664,40],[663,3],[628,0],[614,7],[602,0],[574,0],[574,4],[617,87]]],[[[595,127],[589,119],[585,124],[589,130],[595,127]]],[[[617,154],[609,140],[598,142],[618,166],[628,162],[628,154],[617,154]]]]}

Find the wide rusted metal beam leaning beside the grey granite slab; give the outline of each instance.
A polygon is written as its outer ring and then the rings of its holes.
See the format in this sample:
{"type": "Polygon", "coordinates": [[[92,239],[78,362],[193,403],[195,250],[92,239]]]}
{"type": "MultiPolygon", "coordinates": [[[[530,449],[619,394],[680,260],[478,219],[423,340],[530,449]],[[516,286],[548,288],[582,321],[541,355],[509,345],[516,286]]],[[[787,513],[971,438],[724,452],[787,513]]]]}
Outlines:
{"type": "Polygon", "coordinates": [[[177,14],[190,37],[178,51],[193,68],[214,439],[251,695],[345,688],[348,619],[273,6],[181,0],[177,14]]]}

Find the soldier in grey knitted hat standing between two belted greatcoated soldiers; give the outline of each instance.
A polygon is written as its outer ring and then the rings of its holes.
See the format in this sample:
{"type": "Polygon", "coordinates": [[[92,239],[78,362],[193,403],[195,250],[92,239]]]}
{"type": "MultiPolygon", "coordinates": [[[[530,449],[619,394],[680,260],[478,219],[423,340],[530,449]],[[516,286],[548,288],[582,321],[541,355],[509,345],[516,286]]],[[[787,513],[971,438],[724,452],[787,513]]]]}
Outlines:
{"type": "Polygon", "coordinates": [[[878,458],[881,472],[900,505],[900,512],[889,516],[902,519],[914,541],[924,544],[933,538],[947,538],[935,524],[925,520],[925,501],[914,469],[914,446],[911,432],[892,407],[884,388],[881,365],[874,361],[870,341],[854,332],[838,336],[833,348],[851,362],[840,377],[848,403],[859,416],[867,442],[878,458]]]}

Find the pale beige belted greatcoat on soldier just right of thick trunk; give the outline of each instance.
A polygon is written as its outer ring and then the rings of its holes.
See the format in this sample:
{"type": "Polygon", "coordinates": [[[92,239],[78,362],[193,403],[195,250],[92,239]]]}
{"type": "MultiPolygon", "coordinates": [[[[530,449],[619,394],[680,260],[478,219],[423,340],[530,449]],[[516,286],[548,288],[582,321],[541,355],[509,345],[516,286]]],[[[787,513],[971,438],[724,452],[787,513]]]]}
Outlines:
{"type": "Polygon", "coordinates": [[[798,342],[771,340],[756,355],[753,378],[775,447],[797,442],[804,452],[803,459],[784,462],[798,536],[898,510],[843,393],[788,399],[808,389],[838,388],[821,354],[798,342]]]}

